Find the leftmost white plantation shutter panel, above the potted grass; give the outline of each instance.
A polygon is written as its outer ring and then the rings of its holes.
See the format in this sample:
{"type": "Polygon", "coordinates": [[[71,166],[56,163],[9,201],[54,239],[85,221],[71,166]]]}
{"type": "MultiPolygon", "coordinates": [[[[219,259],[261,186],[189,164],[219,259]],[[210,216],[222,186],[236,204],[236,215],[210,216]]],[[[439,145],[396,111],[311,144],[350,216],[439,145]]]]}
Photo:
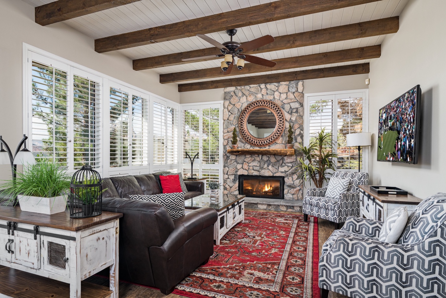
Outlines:
{"type": "Polygon", "coordinates": [[[67,72],[34,61],[31,72],[33,154],[67,166],[67,72]]]}

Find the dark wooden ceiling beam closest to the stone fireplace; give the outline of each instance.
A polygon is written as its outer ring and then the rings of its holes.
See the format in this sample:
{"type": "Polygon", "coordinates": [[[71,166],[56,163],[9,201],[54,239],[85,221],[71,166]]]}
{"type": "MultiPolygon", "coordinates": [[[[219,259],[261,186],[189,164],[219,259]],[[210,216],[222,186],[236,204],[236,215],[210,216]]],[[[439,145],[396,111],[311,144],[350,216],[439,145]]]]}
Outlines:
{"type": "Polygon", "coordinates": [[[312,80],[330,78],[334,76],[351,76],[370,72],[369,63],[353,64],[337,67],[309,69],[303,71],[290,71],[271,75],[250,76],[227,80],[214,80],[198,83],[179,84],[178,92],[217,89],[225,87],[237,87],[256,84],[278,83],[294,80],[312,80]]]}

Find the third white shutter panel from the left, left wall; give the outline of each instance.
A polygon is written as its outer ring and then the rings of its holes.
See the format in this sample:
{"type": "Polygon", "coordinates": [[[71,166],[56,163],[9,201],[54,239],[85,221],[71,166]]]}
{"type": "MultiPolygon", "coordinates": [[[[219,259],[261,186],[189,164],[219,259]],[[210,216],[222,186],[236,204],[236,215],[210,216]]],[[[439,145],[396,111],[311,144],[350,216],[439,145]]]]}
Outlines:
{"type": "Polygon", "coordinates": [[[129,94],[110,87],[110,167],[126,167],[128,161],[129,94]]]}

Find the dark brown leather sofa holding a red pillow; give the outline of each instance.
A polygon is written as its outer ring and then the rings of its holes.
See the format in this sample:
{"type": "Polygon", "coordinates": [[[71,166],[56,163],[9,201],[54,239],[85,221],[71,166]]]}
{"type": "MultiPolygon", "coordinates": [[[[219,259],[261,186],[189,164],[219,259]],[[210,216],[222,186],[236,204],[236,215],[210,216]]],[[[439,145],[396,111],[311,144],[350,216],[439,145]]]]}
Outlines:
{"type": "MultiPolygon", "coordinates": [[[[162,193],[160,174],[103,179],[107,190],[102,209],[124,214],[120,218],[120,279],[158,287],[167,295],[214,253],[217,212],[205,207],[172,220],[163,206],[130,199],[132,194],[162,193]]],[[[188,198],[204,191],[199,181],[185,183],[188,198]]]]}

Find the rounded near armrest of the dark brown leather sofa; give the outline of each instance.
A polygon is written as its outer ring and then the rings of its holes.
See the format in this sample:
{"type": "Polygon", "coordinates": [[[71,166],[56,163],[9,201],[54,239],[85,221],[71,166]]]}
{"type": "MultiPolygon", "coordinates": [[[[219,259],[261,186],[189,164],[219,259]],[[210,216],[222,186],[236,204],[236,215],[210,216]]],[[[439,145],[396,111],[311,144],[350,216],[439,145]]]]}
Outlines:
{"type": "Polygon", "coordinates": [[[187,240],[194,237],[217,221],[217,211],[210,207],[192,210],[174,220],[175,228],[161,246],[169,260],[187,240]]]}

